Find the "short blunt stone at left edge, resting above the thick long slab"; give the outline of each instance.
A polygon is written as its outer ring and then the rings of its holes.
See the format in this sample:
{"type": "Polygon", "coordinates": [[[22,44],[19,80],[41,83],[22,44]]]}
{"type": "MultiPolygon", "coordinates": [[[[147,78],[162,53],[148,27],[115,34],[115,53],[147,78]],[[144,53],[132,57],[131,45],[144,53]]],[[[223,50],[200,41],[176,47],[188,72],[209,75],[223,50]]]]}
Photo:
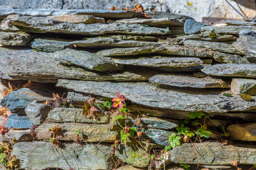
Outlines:
{"type": "Polygon", "coordinates": [[[30,41],[29,34],[15,32],[0,32],[2,46],[26,46],[30,41]]]}

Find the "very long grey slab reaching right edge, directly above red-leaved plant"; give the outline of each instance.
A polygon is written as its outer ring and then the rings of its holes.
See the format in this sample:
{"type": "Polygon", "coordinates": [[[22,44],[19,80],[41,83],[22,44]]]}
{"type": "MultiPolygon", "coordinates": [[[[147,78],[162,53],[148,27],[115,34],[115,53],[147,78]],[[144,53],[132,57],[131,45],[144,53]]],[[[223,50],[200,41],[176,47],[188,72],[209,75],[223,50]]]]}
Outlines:
{"type": "Polygon", "coordinates": [[[225,113],[228,111],[249,111],[256,108],[256,102],[243,101],[240,96],[186,94],[184,92],[159,89],[156,85],[150,85],[150,83],[59,80],[57,86],[92,94],[93,96],[109,98],[115,97],[116,92],[120,92],[132,103],[168,110],[225,113]]]}

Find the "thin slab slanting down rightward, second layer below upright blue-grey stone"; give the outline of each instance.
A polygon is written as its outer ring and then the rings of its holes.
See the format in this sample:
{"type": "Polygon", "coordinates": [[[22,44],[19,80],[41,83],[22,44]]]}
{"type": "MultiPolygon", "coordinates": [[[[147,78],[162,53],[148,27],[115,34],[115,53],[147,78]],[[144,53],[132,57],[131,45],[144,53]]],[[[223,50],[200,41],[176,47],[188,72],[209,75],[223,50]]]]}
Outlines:
{"type": "Polygon", "coordinates": [[[182,43],[184,44],[184,46],[209,48],[211,50],[220,51],[220,52],[243,54],[237,51],[234,46],[228,45],[226,43],[195,41],[195,40],[186,40],[186,41],[182,41],[182,43]]]}

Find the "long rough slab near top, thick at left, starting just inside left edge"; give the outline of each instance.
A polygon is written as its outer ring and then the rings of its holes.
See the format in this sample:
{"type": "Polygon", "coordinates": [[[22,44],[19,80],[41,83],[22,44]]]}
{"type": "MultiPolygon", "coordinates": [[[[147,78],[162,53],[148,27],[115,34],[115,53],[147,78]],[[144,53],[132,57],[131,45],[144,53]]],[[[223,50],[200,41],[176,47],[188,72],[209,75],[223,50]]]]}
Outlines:
{"type": "Polygon", "coordinates": [[[59,22],[48,17],[31,16],[12,18],[10,24],[17,26],[25,32],[50,32],[84,36],[100,36],[104,34],[166,35],[171,33],[169,29],[145,27],[138,24],[74,24],[70,22],[59,22]]]}

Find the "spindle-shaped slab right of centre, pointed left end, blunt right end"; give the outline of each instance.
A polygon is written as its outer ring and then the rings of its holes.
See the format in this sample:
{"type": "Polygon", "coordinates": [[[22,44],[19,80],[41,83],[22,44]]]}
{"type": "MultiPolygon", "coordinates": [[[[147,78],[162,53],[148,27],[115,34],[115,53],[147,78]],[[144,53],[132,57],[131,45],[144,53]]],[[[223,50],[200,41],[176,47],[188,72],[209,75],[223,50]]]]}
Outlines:
{"type": "Polygon", "coordinates": [[[152,67],[161,71],[195,71],[197,67],[203,66],[204,62],[195,57],[159,57],[157,58],[142,58],[129,60],[114,60],[116,64],[146,66],[152,67]]]}

